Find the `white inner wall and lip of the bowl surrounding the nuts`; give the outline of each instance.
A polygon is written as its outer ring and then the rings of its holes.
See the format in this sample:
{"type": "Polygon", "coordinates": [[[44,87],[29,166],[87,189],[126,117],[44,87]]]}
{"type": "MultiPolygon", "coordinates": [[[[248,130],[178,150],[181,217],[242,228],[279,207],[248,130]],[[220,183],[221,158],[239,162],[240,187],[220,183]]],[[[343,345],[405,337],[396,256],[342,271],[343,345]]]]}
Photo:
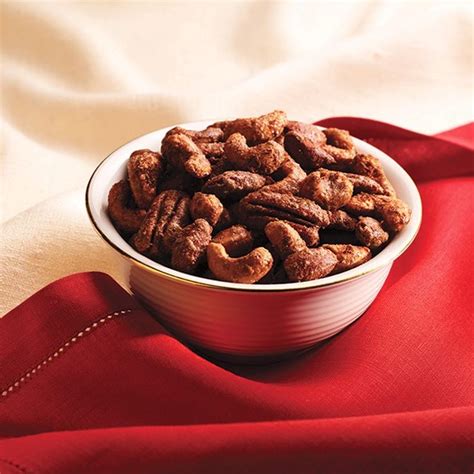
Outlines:
{"type": "MultiPolygon", "coordinates": [[[[212,122],[192,122],[180,124],[190,130],[200,130],[212,122]]],[[[173,125],[175,126],[175,125],[173,125]]],[[[214,288],[226,288],[251,291],[287,291],[292,289],[314,288],[341,283],[362,276],[368,272],[390,264],[410,245],[418,232],[421,223],[421,199],[415,183],[408,173],[392,158],[381,150],[354,138],[359,153],[371,154],[379,158],[385,169],[388,179],[393,184],[398,196],[412,209],[409,224],[399,232],[387,247],[368,262],[346,272],[320,278],[314,281],[301,283],[280,283],[273,285],[228,283],[218,280],[188,275],[177,270],[165,267],[138,253],[116,231],[107,213],[107,196],[114,183],[126,176],[127,160],[130,154],[138,149],[149,148],[159,150],[161,140],[172,127],[156,130],[138,137],[112,152],[94,171],[86,191],[86,205],[89,216],[101,236],[123,256],[132,259],[136,264],[147,267],[150,271],[157,271],[163,276],[201,284],[214,288]]]]}

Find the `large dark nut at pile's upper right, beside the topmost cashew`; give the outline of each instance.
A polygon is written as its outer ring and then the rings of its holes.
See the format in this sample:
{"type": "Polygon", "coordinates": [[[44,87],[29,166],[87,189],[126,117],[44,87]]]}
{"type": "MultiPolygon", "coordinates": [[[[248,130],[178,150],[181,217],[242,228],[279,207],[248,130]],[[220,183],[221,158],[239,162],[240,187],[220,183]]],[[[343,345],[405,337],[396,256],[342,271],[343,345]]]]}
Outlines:
{"type": "Polygon", "coordinates": [[[320,166],[336,162],[323,148],[326,135],[315,125],[289,122],[286,130],[285,150],[304,169],[313,171],[320,166]]]}

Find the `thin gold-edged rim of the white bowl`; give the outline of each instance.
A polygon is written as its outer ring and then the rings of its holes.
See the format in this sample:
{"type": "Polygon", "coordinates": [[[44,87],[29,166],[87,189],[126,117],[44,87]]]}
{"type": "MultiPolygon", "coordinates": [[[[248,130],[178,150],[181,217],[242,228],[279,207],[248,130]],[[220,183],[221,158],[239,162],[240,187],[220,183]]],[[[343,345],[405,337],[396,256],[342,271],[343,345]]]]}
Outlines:
{"type": "MultiPolygon", "coordinates": [[[[222,119],[221,119],[222,120],[222,119]]],[[[225,119],[224,119],[225,120],[225,119]]],[[[385,247],[379,254],[377,254],[374,258],[370,259],[368,262],[359,265],[351,270],[347,270],[345,272],[338,273],[336,275],[327,276],[324,278],[319,278],[317,280],[305,281],[305,282],[292,282],[292,283],[274,283],[274,284],[249,284],[249,283],[232,283],[226,282],[221,280],[212,280],[210,278],[205,277],[198,277],[195,275],[190,275],[187,273],[180,272],[178,270],[174,270],[172,268],[166,267],[160,263],[157,263],[148,257],[138,253],[133,249],[129,243],[120,236],[120,245],[115,243],[112,238],[107,235],[107,232],[101,228],[99,223],[100,216],[96,215],[96,212],[92,208],[92,189],[97,179],[97,176],[102,169],[102,167],[112,158],[115,157],[117,153],[119,153],[123,148],[130,146],[136,141],[146,139],[147,137],[154,136],[156,134],[164,134],[168,130],[173,127],[183,127],[187,129],[195,129],[198,130],[200,128],[205,128],[209,126],[211,123],[214,123],[216,120],[202,120],[202,121],[195,121],[195,122],[187,122],[182,124],[171,125],[168,127],[160,128],[157,130],[153,130],[149,133],[139,135],[138,137],[129,140],[125,144],[119,146],[111,153],[109,153],[94,169],[92,175],[89,178],[87,183],[86,192],[85,192],[85,205],[88,217],[96,230],[96,232],[102,237],[105,242],[110,245],[115,251],[117,251],[122,257],[129,260],[132,264],[138,265],[139,267],[143,268],[144,270],[150,271],[152,273],[156,273],[162,277],[165,277],[170,280],[174,280],[176,282],[180,282],[183,284],[191,285],[191,286],[201,286],[208,289],[215,289],[215,290],[227,290],[227,291],[252,291],[252,292],[263,292],[263,293],[274,293],[274,292],[283,292],[283,291],[301,291],[301,290],[309,290],[315,288],[325,288],[325,287],[334,287],[336,285],[340,285],[351,280],[361,278],[364,275],[369,273],[376,272],[381,270],[383,267],[387,265],[391,265],[400,255],[402,255],[408,247],[412,244],[415,240],[418,231],[421,227],[422,221],[422,202],[421,197],[416,187],[413,179],[410,175],[403,169],[403,167],[397,163],[393,158],[387,155],[382,150],[376,148],[373,145],[370,145],[367,142],[364,142],[357,137],[352,136],[356,147],[358,148],[365,148],[368,152],[375,156],[382,156],[383,160],[388,160],[391,163],[391,166],[402,176],[402,179],[406,186],[408,187],[412,198],[414,199],[414,203],[412,205],[412,216],[411,219],[413,221],[411,225],[411,231],[407,232],[404,236],[402,242],[399,242],[398,250],[396,252],[393,251],[393,242],[390,242],[387,247],[385,247]],[[414,221],[416,219],[416,221],[414,221]],[[387,250],[392,250],[392,252],[387,252],[387,250]]],[[[320,129],[324,129],[325,127],[319,127],[320,129]]],[[[138,149],[138,148],[137,148],[138,149]]],[[[128,159],[128,156],[127,158],[128,159]]],[[[121,163],[125,162],[126,159],[123,159],[121,163]]],[[[119,165],[117,165],[118,167],[119,165]]],[[[103,197],[104,199],[104,197],[103,197]]],[[[115,230],[115,229],[114,229],[115,230]]],[[[408,230],[408,229],[404,229],[408,230]]],[[[118,234],[117,231],[115,231],[118,234]]],[[[402,231],[403,232],[403,231],[402,231]]]]}

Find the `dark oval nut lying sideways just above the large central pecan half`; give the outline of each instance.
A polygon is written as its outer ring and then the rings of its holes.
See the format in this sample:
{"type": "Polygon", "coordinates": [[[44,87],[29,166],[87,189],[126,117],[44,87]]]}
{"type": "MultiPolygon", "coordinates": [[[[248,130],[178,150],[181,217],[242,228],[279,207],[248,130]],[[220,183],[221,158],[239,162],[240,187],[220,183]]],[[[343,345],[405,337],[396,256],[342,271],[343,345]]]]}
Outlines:
{"type": "Polygon", "coordinates": [[[202,192],[215,194],[219,199],[241,199],[247,194],[257,191],[271,178],[248,171],[225,171],[210,178],[202,187],[202,192]]]}

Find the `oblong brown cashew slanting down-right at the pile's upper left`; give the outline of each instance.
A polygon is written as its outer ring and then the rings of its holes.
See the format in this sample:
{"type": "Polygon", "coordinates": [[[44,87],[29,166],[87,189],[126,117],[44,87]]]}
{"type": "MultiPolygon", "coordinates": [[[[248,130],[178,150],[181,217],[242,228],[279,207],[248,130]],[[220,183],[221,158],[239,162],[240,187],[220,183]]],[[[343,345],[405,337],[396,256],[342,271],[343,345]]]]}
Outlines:
{"type": "Polygon", "coordinates": [[[173,166],[191,176],[205,178],[211,173],[211,163],[187,135],[177,133],[164,138],[161,152],[173,166]]]}

